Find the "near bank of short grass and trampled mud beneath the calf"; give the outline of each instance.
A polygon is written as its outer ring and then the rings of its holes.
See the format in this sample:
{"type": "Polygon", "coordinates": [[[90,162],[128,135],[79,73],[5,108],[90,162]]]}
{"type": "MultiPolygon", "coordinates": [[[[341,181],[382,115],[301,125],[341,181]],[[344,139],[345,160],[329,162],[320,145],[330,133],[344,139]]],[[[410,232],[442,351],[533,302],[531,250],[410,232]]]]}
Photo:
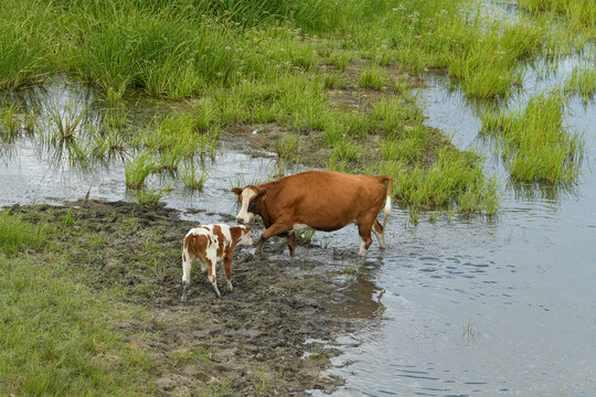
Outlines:
{"type": "Polygon", "coordinates": [[[262,266],[237,249],[233,293],[217,299],[193,266],[181,304],[181,230],[191,225],[123,202],[0,211],[0,395],[331,391],[337,378],[319,373],[338,351],[306,342],[331,341],[356,320],[326,307],[343,297],[328,276],[287,273],[324,264],[306,255],[262,266]]]}

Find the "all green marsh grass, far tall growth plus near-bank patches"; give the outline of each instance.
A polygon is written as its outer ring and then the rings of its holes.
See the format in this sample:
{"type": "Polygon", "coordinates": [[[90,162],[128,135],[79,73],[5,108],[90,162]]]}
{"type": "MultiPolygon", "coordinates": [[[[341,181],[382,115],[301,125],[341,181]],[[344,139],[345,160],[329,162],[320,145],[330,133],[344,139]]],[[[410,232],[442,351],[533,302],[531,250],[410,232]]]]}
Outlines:
{"type": "MultiPolygon", "coordinates": [[[[586,43],[596,36],[596,6],[588,0],[520,0],[519,6],[528,12],[510,18],[461,0],[8,0],[0,4],[0,148],[10,150],[28,137],[43,142],[56,161],[83,170],[121,167],[127,189],[140,204],[151,205],[168,194],[172,181],[201,191],[222,136],[248,142],[266,131],[253,137],[240,130],[276,130],[281,132],[263,147],[277,153],[280,169],[299,163],[390,174],[394,198],[413,221],[425,210],[492,215],[499,210],[499,181],[487,172],[486,159],[458,150],[448,137],[426,127],[424,104],[412,88],[421,87],[426,74],[443,73],[454,89],[485,104],[479,110],[483,131],[496,142],[513,182],[575,183],[586,142],[564,126],[562,116],[571,96],[593,100],[594,62],[528,104],[511,105],[509,99],[523,92],[524,71],[539,56],[546,60],[544,74],[570,53],[584,52],[594,60],[586,43]],[[18,93],[55,79],[84,84],[98,94],[84,104],[17,99],[18,93]],[[139,96],[159,100],[160,110],[131,116],[139,96]],[[110,163],[114,159],[119,159],[117,165],[110,163]],[[151,178],[162,184],[151,185],[151,178]]],[[[23,268],[29,254],[21,248],[43,246],[45,232],[2,216],[2,227],[11,230],[0,233],[2,266],[23,268]]],[[[61,258],[52,249],[45,255],[61,258]]],[[[70,282],[64,293],[84,289],[81,278],[68,278],[64,258],[58,265],[70,282]]],[[[39,288],[32,291],[57,288],[46,280],[51,270],[34,270],[39,288]]],[[[155,291],[143,283],[135,288],[147,296],[155,291]]],[[[4,298],[15,299],[17,292],[7,291],[4,298]]],[[[119,299],[113,298],[116,292],[94,298],[89,308],[77,305],[74,313],[95,318],[107,304],[104,300],[119,299]]],[[[92,300],[85,293],[83,299],[92,300]]],[[[58,304],[52,321],[65,313],[58,304]]],[[[9,357],[3,361],[7,371],[0,371],[7,393],[109,394],[113,387],[129,390],[142,382],[148,376],[143,355],[104,333],[102,319],[77,329],[81,340],[64,347],[67,353],[40,353],[40,366],[55,363],[56,379],[88,372],[72,389],[38,379],[36,371],[22,372],[26,363],[9,357]],[[99,369],[83,371],[74,358],[77,348],[108,358],[93,362],[99,369]],[[117,350],[120,358],[114,364],[109,357],[117,350]],[[117,372],[117,366],[131,372],[117,372]],[[103,375],[94,377],[96,371],[103,375]]],[[[47,332],[40,337],[60,337],[47,332]]],[[[21,347],[11,343],[4,352],[18,357],[21,347]]],[[[174,356],[179,362],[193,357],[189,352],[174,356]]]]}

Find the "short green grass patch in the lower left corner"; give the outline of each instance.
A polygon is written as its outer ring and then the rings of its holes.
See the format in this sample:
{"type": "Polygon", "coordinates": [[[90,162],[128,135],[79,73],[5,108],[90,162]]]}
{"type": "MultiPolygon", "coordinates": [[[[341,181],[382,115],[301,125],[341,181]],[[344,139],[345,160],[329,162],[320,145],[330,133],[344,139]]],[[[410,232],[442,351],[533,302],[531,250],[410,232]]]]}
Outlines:
{"type": "Polygon", "coordinates": [[[110,292],[45,249],[49,227],[0,213],[0,394],[141,395],[150,362],[113,330],[110,292]],[[10,255],[7,256],[7,255],[10,255]]]}

